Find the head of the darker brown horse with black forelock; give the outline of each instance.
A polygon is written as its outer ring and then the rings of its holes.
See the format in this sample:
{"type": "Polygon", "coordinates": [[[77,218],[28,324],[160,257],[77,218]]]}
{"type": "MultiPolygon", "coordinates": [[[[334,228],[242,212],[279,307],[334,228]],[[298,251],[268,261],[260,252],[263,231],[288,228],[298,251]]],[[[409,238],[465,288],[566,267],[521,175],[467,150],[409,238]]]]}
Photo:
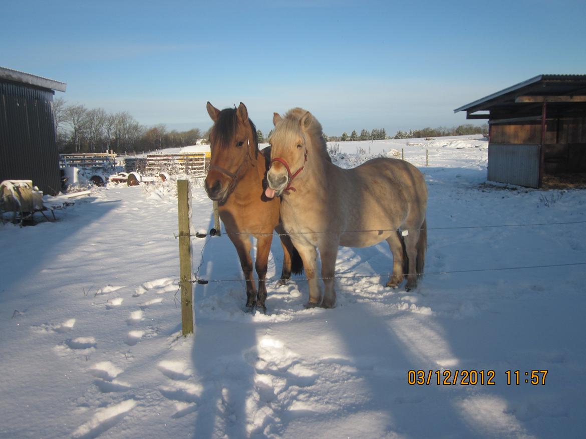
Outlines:
{"type": "Polygon", "coordinates": [[[210,132],[212,156],[205,182],[206,192],[214,201],[225,201],[247,172],[249,160],[258,153],[256,129],[242,102],[238,108],[222,111],[210,102],[206,107],[214,121],[210,132]]]}

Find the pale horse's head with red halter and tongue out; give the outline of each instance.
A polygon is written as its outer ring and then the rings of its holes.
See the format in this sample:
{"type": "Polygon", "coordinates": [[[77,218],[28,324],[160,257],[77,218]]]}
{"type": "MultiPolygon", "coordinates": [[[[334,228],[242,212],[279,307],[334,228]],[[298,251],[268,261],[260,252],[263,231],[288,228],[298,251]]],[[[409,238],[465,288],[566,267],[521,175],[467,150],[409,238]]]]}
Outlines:
{"type": "Polygon", "coordinates": [[[272,123],[275,129],[268,139],[271,144],[271,167],[265,191],[269,198],[278,197],[284,191],[295,191],[291,185],[305,167],[308,142],[311,142],[309,128],[314,123],[314,116],[309,111],[295,108],[285,118],[275,113],[272,123]]]}

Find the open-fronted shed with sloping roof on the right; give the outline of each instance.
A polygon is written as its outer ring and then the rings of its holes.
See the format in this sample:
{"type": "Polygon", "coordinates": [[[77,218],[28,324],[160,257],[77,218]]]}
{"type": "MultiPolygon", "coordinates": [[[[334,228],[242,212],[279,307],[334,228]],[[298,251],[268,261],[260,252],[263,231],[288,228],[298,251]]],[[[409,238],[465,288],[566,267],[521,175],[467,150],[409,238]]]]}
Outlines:
{"type": "Polygon", "coordinates": [[[537,188],[586,173],[586,75],[539,75],[458,111],[488,119],[490,181],[537,188]]]}

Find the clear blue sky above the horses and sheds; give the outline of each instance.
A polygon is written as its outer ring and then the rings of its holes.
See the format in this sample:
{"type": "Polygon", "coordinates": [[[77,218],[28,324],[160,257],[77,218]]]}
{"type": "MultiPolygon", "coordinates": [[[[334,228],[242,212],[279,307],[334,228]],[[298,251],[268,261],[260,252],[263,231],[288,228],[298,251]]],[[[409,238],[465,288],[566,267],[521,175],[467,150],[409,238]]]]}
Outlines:
{"type": "MultiPolygon", "coordinates": [[[[586,74],[586,2],[3,1],[0,66],[67,102],[207,129],[243,101],[263,132],[304,107],[329,135],[468,123],[453,109],[541,73],[586,74]]],[[[474,121],[478,123],[477,121],[474,121]]]]}

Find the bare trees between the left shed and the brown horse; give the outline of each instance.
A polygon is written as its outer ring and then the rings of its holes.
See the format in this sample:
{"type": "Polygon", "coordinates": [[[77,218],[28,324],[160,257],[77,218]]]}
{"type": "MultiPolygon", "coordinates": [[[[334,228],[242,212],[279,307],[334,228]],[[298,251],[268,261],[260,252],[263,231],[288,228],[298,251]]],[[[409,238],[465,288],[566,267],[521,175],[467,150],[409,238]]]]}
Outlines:
{"type": "Polygon", "coordinates": [[[116,153],[149,151],[194,145],[201,139],[199,128],[168,130],[164,124],[148,128],[127,111],[108,113],[103,108],[68,105],[63,98],[53,101],[57,148],[64,153],[116,153]]]}

